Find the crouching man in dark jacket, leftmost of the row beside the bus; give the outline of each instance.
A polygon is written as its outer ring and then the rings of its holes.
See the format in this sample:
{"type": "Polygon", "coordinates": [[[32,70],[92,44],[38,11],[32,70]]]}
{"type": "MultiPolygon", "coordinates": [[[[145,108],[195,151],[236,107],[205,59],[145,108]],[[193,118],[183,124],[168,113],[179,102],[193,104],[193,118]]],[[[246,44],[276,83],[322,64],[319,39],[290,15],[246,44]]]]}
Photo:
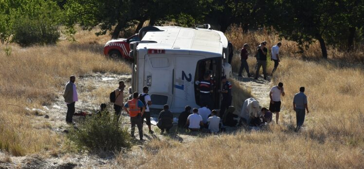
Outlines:
{"type": "Polygon", "coordinates": [[[166,130],[166,132],[169,132],[169,129],[171,129],[173,127],[173,115],[172,113],[168,110],[169,106],[167,104],[165,104],[163,106],[163,110],[161,111],[161,113],[159,114],[158,117],[158,123],[157,126],[158,128],[161,129],[161,134],[164,133],[164,130],[166,130]]]}

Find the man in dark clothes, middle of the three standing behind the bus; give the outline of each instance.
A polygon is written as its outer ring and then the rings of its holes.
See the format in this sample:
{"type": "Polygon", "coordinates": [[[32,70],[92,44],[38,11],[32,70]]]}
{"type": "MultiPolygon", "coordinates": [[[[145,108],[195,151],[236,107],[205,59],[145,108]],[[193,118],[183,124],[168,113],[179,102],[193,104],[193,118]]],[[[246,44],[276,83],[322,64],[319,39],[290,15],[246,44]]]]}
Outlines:
{"type": "Polygon", "coordinates": [[[264,80],[267,80],[267,48],[265,47],[267,42],[264,41],[260,43],[257,49],[257,57],[256,57],[256,72],[255,72],[255,79],[259,77],[259,70],[260,67],[263,67],[263,76],[264,80]]]}

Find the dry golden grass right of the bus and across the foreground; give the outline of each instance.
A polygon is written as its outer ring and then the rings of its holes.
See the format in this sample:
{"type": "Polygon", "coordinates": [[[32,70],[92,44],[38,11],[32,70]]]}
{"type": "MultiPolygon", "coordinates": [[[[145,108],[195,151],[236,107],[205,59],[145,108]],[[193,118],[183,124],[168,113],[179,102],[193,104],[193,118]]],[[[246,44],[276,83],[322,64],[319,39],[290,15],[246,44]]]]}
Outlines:
{"type": "MultiPolygon", "coordinates": [[[[266,40],[268,47],[282,42],[282,61],[272,77],[272,85],[283,82],[281,124],[267,130],[211,135],[192,142],[154,139],[143,149],[135,149],[117,158],[115,168],[363,168],[364,167],[364,57],[329,49],[329,59],[321,59],[314,44],[304,53],[296,53],[295,42],[280,40],[268,32],[241,34],[232,28],[227,34],[233,44],[257,46],[266,40]],[[340,57],[339,57],[340,56],[340,57]],[[293,95],[306,87],[310,113],[304,129],[294,132],[293,95]]],[[[237,48],[236,48],[237,49],[237,48]]],[[[239,67],[238,52],[233,70],[239,67]]],[[[359,54],[358,54],[359,53],[359,54]]],[[[255,58],[248,59],[254,71],[255,58]]],[[[268,72],[273,65],[268,66],[268,72]]],[[[237,81],[233,80],[234,86],[237,81]]],[[[243,88],[246,90],[246,88],[243,88]]],[[[240,89],[237,92],[241,92],[240,89]]],[[[245,94],[235,93],[235,96],[245,94]]],[[[239,106],[238,101],[234,101],[239,106]]]]}

